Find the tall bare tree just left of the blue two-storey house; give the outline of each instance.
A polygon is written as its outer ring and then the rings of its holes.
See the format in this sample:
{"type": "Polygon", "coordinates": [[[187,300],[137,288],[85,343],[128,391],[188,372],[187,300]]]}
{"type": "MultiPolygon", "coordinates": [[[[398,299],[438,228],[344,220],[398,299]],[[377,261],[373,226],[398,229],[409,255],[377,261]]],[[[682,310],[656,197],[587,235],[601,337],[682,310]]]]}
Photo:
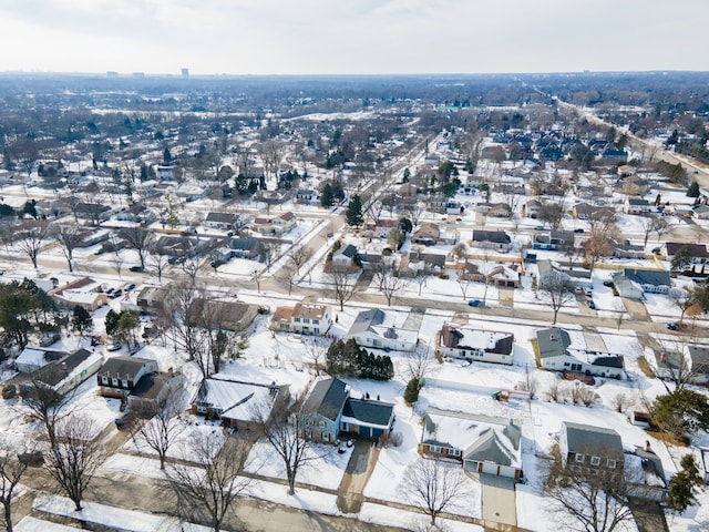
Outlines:
{"type": "Polygon", "coordinates": [[[255,418],[259,430],[280,457],[288,480],[288,494],[296,493],[298,471],[309,461],[320,457],[309,452],[310,441],[306,438],[305,427],[298,415],[301,401],[296,398],[274,405],[270,400],[255,406],[255,418]]]}

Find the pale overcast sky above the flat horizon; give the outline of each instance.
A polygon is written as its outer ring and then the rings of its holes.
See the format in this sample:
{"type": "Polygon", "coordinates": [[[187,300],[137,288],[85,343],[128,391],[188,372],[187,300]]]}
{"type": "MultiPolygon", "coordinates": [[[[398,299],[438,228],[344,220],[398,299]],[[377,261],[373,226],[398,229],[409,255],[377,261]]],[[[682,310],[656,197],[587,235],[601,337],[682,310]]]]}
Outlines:
{"type": "Polygon", "coordinates": [[[709,0],[0,0],[0,71],[709,70],[709,0]]]}

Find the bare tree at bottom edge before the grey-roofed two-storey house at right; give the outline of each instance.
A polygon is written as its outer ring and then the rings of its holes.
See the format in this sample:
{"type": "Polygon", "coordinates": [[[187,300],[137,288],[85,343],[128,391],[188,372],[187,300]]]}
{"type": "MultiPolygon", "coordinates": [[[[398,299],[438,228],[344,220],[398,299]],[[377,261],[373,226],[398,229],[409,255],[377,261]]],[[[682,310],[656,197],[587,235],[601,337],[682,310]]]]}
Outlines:
{"type": "MultiPolygon", "coordinates": [[[[549,466],[545,494],[567,530],[613,532],[630,521],[628,495],[621,470],[615,474],[589,471],[588,468],[564,467],[558,450],[549,466]]],[[[605,463],[603,449],[594,451],[605,463]]]]}

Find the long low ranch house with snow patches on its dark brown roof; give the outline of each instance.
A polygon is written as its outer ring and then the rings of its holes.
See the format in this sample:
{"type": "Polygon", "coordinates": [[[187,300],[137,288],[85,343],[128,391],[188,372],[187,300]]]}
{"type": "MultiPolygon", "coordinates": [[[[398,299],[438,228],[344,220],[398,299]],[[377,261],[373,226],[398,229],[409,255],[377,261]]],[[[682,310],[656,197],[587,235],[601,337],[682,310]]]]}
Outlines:
{"type": "Polygon", "coordinates": [[[442,357],[512,365],[514,335],[477,329],[470,325],[444,324],[439,335],[442,357]]]}

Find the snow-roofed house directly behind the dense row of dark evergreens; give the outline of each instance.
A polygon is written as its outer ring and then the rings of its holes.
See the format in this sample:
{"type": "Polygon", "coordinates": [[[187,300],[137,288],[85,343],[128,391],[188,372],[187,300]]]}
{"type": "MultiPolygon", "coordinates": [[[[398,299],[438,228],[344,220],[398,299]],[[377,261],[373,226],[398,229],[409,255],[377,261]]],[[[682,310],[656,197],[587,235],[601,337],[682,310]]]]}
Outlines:
{"type": "Polygon", "coordinates": [[[398,327],[393,315],[374,308],[357,315],[346,338],[353,338],[360,347],[413,351],[419,342],[419,331],[398,327]]]}

